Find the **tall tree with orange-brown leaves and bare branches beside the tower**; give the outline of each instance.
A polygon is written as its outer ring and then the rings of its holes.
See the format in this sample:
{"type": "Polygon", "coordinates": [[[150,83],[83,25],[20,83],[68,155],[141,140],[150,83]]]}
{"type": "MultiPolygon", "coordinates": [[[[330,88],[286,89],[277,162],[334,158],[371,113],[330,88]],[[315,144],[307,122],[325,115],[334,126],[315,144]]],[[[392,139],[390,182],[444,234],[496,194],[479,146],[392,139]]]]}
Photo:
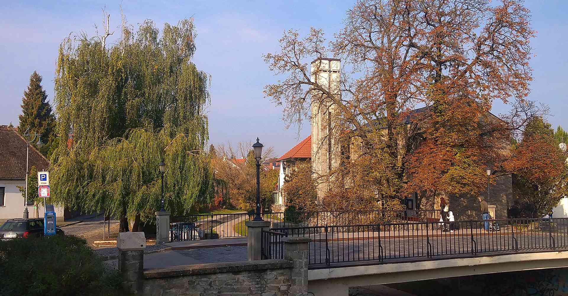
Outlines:
{"type": "MultiPolygon", "coordinates": [[[[264,56],[274,74],[286,77],[264,93],[283,106],[288,126],[301,127],[314,104],[336,110],[330,120],[341,131],[329,135],[358,139],[361,156],[386,160],[373,167],[379,199],[414,191],[429,198],[438,190],[477,194],[487,165],[511,173],[504,164],[514,156],[512,137],[545,113],[525,99],[529,19],[517,0],[360,0],[329,43],[323,30],[304,37],[286,31],[281,51],[264,56]],[[342,61],[340,95],[311,78],[308,62],[328,54],[342,61]],[[510,104],[511,113],[488,113],[495,100],[510,104]],[[411,112],[420,106],[427,107],[411,112]]],[[[343,182],[344,171],[317,177],[343,182]]]]}

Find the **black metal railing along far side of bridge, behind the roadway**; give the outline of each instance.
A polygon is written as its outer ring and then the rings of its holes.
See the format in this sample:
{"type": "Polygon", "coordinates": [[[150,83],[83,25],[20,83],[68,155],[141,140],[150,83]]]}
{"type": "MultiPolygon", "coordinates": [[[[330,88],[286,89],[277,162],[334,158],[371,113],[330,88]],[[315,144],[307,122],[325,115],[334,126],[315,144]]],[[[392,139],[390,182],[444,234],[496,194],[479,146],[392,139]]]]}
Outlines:
{"type": "MultiPolygon", "coordinates": [[[[454,213],[458,216],[457,213],[454,213]]],[[[245,222],[254,214],[202,214],[174,216],[170,224],[170,240],[199,240],[247,236],[245,222]]],[[[359,224],[384,224],[402,222],[435,222],[440,219],[439,210],[400,211],[308,211],[264,212],[264,220],[272,228],[341,226],[359,224]]]]}

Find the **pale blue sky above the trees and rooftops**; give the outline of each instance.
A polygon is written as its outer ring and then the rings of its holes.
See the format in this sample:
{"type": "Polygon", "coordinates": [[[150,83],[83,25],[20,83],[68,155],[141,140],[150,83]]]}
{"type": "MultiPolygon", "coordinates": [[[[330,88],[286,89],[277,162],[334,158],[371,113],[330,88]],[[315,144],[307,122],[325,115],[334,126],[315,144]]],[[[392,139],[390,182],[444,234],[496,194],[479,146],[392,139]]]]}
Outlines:
{"type": "MultiPolygon", "coordinates": [[[[350,1],[23,1],[3,3],[0,9],[0,124],[18,124],[20,104],[30,74],[37,70],[53,98],[53,77],[57,47],[70,32],[95,34],[101,27],[101,8],[111,15],[111,28],[119,35],[119,5],[127,21],[135,27],[144,19],[175,24],[179,19],[195,19],[198,37],[194,62],[211,74],[209,133],[212,144],[252,141],[260,137],[281,156],[310,134],[285,130],[282,110],[262,95],[262,87],[276,77],[262,55],[278,49],[284,30],[307,32],[323,28],[331,37],[341,27],[353,2],[350,1]]],[[[550,106],[549,118],[556,127],[568,128],[568,1],[527,1],[532,11],[534,81],[530,99],[550,106]]],[[[507,106],[495,103],[495,113],[507,106]]]]}

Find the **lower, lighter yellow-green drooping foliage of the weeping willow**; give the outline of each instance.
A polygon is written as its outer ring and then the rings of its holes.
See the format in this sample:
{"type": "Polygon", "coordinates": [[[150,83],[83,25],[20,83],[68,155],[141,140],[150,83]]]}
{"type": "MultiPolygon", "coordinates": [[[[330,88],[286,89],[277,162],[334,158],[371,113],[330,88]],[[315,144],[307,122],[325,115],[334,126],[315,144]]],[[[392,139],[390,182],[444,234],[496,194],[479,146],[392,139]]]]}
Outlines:
{"type": "Polygon", "coordinates": [[[151,220],[160,209],[158,163],[164,160],[166,210],[183,215],[194,206],[208,204],[214,187],[207,157],[185,153],[194,147],[189,136],[169,135],[168,128],[157,132],[135,128],[92,149],[86,157],[80,150],[60,149],[52,173],[53,196],[64,205],[81,205],[87,211],[151,220]]]}

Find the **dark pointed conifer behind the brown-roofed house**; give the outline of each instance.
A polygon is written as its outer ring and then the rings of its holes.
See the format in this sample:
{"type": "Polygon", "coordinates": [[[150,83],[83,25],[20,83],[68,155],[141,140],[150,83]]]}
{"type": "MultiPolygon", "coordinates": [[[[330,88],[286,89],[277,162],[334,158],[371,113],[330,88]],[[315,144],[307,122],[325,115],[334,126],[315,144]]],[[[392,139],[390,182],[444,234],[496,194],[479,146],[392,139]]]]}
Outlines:
{"type": "MultiPolygon", "coordinates": [[[[30,85],[22,98],[22,115],[19,115],[19,132],[39,134],[44,145],[39,149],[41,154],[48,155],[55,141],[55,116],[47,101],[47,93],[41,86],[41,76],[34,71],[30,76],[30,85]]],[[[32,143],[35,145],[35,143],[32,143]]]]}

